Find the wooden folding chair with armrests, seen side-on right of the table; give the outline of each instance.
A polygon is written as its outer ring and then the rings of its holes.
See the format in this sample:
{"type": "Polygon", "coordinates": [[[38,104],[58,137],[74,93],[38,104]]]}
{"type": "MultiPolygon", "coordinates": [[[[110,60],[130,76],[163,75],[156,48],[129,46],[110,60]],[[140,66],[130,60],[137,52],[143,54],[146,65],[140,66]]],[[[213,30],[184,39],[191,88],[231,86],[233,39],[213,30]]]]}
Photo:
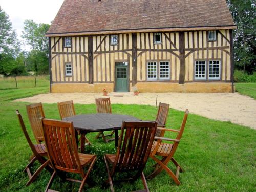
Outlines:
{"type": "Polygon", "coordinates": [[[150,174],[149,176],[147,176],[148,179],[154,178],[159,173],[161,173],[162,170],[165,170],[170,175],[170,177],[173,178],[174,182],[177,185],[181,184],[178,179],[179,173],[184,172],[184,170],[181,168],[179,163],[174,159],[174,154],[175,154],[176,149],[180,143],[180,140],[181,140],[181,137],[182,137],[185,125],[186,125],[187,116],[188,116],[188,110],[185,111],[185,115],[184,115],[180,130],[157,128],[158,130],[161,130],[161,131],[175,132],[178,135],[177,135],[176,139],[155,136],[156,141],[153,144],[150,157],[154,161],[156,161],[157,164],[155,165],[154,172],[152,174],[150,174]],[[162,143],[162,141],[170,141],[170,142],[173,142],[173,144],[162,143]],[[162,159],[160,160],[156,156],[161,156],[162,159]],[[170,170],[170,168],[167,166],[169,161],[172,161],[175,164],[175,166],[177,167],[176,174],[174,174],[172,172],[172,170],[170,170]]]}

